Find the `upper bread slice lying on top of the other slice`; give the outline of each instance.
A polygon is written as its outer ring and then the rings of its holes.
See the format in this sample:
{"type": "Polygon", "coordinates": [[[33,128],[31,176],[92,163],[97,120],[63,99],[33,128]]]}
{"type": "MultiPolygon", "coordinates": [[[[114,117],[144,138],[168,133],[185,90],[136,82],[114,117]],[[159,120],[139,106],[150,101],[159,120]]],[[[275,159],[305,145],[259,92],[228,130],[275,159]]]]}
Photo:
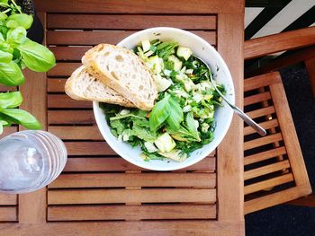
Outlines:
{"type": "Polygon", "coordinates": [[[87,71],[105,85],[121,93],[139,109],[150,110],[157,88],[144,63],[126,48],[99,44],[82,57],[87,71]]]}

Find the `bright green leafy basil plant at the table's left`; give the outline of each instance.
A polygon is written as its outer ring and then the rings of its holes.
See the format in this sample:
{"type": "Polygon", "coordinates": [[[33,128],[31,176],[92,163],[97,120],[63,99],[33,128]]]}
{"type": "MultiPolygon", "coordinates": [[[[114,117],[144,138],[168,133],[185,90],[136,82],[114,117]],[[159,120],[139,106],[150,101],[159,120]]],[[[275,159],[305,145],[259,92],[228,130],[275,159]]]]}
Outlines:
{"type": "MultiPolygon", "coordinates": [[[[32,16],[22,13],[14,0],[0,0],[0,83],[6,86],[23,85],[22,70],[27,67],[35,72],[47,72],[56,65],[53,53],[46,47],[27,38],[32,16]]],[[[21,92],[0,93],[0,134],[3,127],[19,124],[26,128],[40,129],[39,121],[23,109],[21,92]]]]}

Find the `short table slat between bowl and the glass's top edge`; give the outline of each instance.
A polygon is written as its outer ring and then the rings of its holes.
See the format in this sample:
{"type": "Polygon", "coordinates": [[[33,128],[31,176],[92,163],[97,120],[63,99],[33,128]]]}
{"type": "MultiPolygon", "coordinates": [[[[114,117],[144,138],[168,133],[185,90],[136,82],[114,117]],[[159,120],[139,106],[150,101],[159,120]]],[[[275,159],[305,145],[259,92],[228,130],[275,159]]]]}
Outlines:
{"type": "Polygon", "coordinates": [[[48,127],[49,132],[58,135],[63,140],[103,140],[103,136],[97,127],[48,127]]]}

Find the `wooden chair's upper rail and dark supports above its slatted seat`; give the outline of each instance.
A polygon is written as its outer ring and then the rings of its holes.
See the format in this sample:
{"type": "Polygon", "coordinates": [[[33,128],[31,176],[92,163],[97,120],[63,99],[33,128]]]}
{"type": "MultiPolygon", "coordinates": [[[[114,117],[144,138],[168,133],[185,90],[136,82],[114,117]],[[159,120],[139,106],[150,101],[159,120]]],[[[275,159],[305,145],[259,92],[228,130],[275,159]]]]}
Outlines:
{"type": "Polygon", "coordinates": [[[244,44],[244,58],[248,60],[264,57],[285,50],[289,50],[291,54],[287,57],[275,58],[259,68],[251,69],[247,71],[247,76],[265,74],[304,62],[311,89],[315,95],[315,26],[247,40],[244,44]]]}

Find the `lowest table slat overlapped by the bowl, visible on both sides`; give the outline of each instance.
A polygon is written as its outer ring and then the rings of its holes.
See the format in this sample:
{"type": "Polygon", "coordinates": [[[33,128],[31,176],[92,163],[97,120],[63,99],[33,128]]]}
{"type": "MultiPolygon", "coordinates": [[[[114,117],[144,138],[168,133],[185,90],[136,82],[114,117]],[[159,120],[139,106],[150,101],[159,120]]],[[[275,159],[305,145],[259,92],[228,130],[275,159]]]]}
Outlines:
{"type": "MultiPolygon", "coordinates": [[[[125,170],[144,170],[138,166],[118,158],[95,158],[95,157],[80,157],[68,158],[64,171],[77,172],[77,171],[125,171],[125,170]]],[[[202,159],[202,161],[193,164],[192,166],[184,168],[184,170],[199,170],[211,171],[216,170],[215,157],[210,156],[202,159]]]]}

